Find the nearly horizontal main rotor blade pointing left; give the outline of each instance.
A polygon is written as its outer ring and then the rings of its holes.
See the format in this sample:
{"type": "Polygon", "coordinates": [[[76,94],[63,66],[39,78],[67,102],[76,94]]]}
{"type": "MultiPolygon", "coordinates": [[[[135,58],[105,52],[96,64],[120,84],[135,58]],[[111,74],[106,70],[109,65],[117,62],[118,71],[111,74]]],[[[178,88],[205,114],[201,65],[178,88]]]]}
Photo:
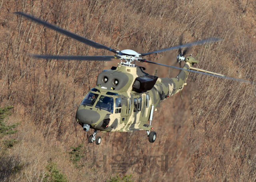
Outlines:
{"type": "Polygon", "coordinates": [[[111,59],[118,59],[118,56],[32,55],[32,57],[43,59],[67,59],[78,61],[111,61],[111,59]]]}

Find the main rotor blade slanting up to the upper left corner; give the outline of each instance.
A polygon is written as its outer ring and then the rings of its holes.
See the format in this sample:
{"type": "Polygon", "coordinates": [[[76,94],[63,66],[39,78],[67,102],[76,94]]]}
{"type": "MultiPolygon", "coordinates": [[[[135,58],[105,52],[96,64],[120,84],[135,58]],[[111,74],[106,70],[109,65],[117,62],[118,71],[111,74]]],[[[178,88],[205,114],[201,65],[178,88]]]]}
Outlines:
{"type": "Polygon", "coordinates": [[[44,25],[44,26],[46,26],[46,27],[48,27],[48,28],[51,28],[51,29],[54,29],[54,30],[56,30],[56,31],[58,31],[58,32],[60,32],[60,33],[63,33],[64,35],[67,35],[68,37],[71,37],[71,38],[73,38],[73,39],[76,39],[76,40],[78,40],[78,41],[80,41],[80,42],[82,42],[82,43],[85,43],[85,44],[87,44],[87,45],[90,45],[90,46],[92,46],[92,47],[95,47],[96,49],[106,49],[106,50],[108,50],[108,51],[112,51],[112,52],[116,53],[116,50],[111,49],[110,47],[107,47],[107,46],[105,46],[105,45],[101,45],[101,44],[99,44],[99,43],[96,43],[96,42],[94,42],[94,41],[91,41],[91,40],[89,40],[89,39],[86,39],[85,37],[82,37],[82,36],[80,36],[80,35],[77,35],[77,34],[75,34],[75,33],[72,33],[72,32],[70,32],[70,31],[67,31],[67,30],[65,30],[65,29],[62,29],[62,28],[58,27],[57,25],[52,25],[52,24],[50,24],[50,23],[48,23],[48,22],[44,22],[44,21],[42,21],[42,20],[40,20],[40,19],[38,19],[38,18],[35,18],[34,16],[30,16],[30,15],[25,14],[25,13],[23,13],[23,12],[15,12],[15,13],[16,13],[16,14],[20,14],[20,15],[22,15],[22,16],[25,16],[26,18],[28,18],[28,19],[30,19],[30,20],[33,20],[34,22],[40,23],[40,24],[42,24],[42,25],[44,25]]]}

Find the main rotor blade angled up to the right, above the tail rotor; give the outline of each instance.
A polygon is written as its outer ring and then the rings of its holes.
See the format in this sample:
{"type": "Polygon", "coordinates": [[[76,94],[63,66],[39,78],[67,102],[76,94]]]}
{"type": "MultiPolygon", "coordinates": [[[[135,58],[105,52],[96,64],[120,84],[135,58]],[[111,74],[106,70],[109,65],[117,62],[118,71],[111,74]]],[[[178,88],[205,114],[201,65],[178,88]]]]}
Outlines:
{"type": "Polygon", "coordinates": [[[154,52],[150,52],[150,53],[142,53],[141,56],[146,56],[146,55],[153,54],[153,53],[161,53],[161,52],[170,51],[170,50],[173,50],[173,49],[182,49],[182,48],[191,47],[191,46],[194,46],[194,45],[201,45],[201,44],[205,44],[205,43],[218,42],[218,41],[221,41],[221,40],[222,39],[219,39],[217,37],[212,37],[210,39],[204,39],[202,41],[196,41],[196,42],[187,43],[187,44],[184,44],[184,45],[178,45],[178,46],[175,46],[175,47],[170,47],[170,48],[162,49],[162,50],[159,50],[159,51],[154,51],[154,52]]]}

